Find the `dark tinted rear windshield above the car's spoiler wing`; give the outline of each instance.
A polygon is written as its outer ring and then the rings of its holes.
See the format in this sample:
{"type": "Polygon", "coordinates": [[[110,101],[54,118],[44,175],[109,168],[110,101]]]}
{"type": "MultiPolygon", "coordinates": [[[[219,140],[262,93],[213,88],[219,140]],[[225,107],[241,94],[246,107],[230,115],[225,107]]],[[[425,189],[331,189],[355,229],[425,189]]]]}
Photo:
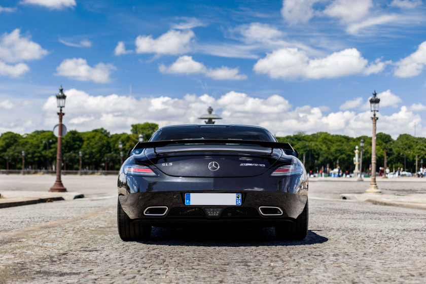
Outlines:
{"type": "Polygon", "coordinates": [[[251,126],[176,126],[158,130],[151,141],[180,139],[238,139],[276,142],[267,130],[251,126]]]}

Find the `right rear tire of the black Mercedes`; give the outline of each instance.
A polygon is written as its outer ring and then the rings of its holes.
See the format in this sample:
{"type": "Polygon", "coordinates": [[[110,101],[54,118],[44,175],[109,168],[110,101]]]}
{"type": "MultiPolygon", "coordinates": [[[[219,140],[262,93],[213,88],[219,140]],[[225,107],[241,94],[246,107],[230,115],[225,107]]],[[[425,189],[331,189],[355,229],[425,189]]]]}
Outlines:
{"type": "Polygon", "coordinates": [[[305,208],[296,221],[275,226],[275,236],[279,240],[303,240],[308,233],[309,208],[306,200],[305,208]]]}

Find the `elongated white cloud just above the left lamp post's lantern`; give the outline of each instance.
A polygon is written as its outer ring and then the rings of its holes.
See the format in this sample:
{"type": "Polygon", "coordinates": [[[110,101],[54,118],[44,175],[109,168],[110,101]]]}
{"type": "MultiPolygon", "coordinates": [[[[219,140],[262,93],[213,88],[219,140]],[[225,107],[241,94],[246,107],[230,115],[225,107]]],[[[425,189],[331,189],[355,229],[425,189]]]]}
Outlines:
{"type": "Polygon", "coordinates": [[[94,67],[87,64],[86,59],[72,58],[65,59],[56,67],[58,76],[65,76],[69,79],[79,81],[93,81],[95,83],[108,83],[111,81],[110,74],[115,70],[112,64],[98,63],[94,67]]]}

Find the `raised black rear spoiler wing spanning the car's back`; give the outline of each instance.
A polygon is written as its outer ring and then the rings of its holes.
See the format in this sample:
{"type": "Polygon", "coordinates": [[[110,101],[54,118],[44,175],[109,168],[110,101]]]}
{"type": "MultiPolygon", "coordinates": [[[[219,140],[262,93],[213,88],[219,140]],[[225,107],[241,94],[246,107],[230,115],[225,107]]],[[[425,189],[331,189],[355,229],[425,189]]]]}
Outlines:
{"type": "MultiPolygon", "coordinates": [[[[271,153],[274,149],[282,149],[288,155],[295,157],[299,156],[299,153],[293,149],[289,143],[271,142],[271,141],[256,141],[256,140],[237,140],[237,139],[183,139],[183,140],[163,140],[163,141],[149,141],[149,142],[138,142],[136,146],[129,150],[129,156],[132,151],[138,149],[147,149],[158,147],[165,147],[176,144],[250,144],[258,145],[261,147],[271,148],[271,153]]],[[[156,153],[156,152],[155,152],[156,153]]]]}

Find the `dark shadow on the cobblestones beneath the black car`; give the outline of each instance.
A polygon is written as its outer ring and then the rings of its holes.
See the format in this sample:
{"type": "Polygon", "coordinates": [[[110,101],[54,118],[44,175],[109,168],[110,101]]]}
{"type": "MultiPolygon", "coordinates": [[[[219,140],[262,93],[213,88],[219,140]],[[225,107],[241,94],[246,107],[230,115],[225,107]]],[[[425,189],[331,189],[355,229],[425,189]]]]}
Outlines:
{"type": "Polygon", "coordinates": [[[287,246],[324,243],[328,238],[308,230],[304,240],[277,240],[274,228],[215,228],[215,229],[166,229],[153,227],[151,240],[145,244],[182,246],[287,246]]]}

